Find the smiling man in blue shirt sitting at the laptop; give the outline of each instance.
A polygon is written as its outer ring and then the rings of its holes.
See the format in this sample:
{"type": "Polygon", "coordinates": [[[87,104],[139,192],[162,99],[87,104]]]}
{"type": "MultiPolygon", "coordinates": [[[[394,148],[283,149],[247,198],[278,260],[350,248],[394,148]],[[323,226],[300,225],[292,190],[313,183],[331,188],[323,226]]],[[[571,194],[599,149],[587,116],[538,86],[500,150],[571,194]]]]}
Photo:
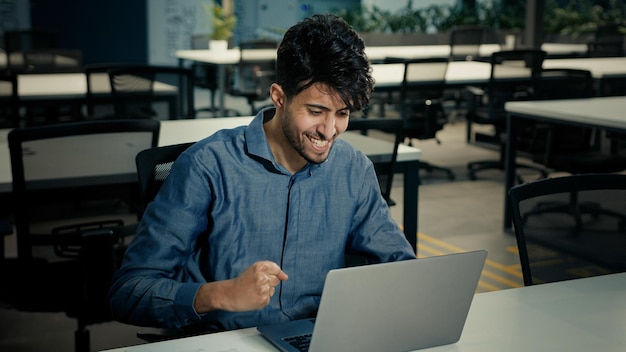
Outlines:
{"type": "Polygon", "coordinates": [[[372,163],[337,139],[372,91],[363,49],[334,15],[287,31],[274,108],[194,144],[147,207],[111,288],[118,320],[210,331],[314,316],[345,253],[415,258],[372,163]]]}

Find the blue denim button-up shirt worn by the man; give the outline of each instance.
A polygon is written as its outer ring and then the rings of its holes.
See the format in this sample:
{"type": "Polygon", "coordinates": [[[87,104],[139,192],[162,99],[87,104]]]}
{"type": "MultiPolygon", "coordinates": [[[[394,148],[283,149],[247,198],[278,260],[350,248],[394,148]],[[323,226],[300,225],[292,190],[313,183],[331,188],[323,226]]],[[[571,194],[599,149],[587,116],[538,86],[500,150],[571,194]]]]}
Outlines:
{"type": "Polygon", "coordinates": [[[113,280],[118,320],[229,330],[309,317],[326,273],[343,266],[345,253],[374,263],[415,258],[362,152],[337,140],[325,162],[291,174],[274,160],[262,124],[259,113],[174,163],[113,280]],[[289,275],[268,306],[196,313],[203,283],[234,278],[259,260],[289,275]]]}

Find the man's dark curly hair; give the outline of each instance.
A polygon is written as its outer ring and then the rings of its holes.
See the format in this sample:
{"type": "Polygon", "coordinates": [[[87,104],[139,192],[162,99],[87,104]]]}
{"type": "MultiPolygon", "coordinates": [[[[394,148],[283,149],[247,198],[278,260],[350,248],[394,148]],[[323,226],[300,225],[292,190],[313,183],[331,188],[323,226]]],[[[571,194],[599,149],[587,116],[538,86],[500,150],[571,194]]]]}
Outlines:
{"type": "Polygon", "coordinates": [[[342,18],[313,15],[291,27],[278,48],[276,80],[288,98],[315,83],[335,89],[353,111],[374,86],[361,37],[342,18]]]}

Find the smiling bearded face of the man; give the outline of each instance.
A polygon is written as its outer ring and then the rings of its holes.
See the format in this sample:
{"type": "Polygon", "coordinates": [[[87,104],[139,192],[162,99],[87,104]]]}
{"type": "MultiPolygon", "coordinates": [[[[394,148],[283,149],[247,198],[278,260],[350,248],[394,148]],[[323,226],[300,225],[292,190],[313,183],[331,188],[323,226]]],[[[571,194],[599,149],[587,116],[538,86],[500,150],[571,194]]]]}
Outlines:
{"type": "Polygon", "coordinates": [[[348,126],[350,109],[336,91],[317,83],[285,105],[282,128],[287,141],[306,161],[328,158],[339,134],[348,126]]]}

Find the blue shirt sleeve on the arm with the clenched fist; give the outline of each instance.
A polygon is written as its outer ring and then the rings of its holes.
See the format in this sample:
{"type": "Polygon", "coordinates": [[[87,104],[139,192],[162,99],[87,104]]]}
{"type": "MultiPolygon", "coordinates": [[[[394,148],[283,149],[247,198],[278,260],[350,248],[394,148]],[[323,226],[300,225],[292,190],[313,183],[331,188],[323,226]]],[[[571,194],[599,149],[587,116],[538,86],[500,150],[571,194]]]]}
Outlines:
{"type": "Polygon", "coordinates": [[[201,164],[193,160],[184,153],[174,163],[116,272],[109,302],[121,322],[180,328],[201,319],[193,302],[206,281],[197,266],[189,271],[194,266],[188,263],[208,226],[211,192],[201,164]]]}

